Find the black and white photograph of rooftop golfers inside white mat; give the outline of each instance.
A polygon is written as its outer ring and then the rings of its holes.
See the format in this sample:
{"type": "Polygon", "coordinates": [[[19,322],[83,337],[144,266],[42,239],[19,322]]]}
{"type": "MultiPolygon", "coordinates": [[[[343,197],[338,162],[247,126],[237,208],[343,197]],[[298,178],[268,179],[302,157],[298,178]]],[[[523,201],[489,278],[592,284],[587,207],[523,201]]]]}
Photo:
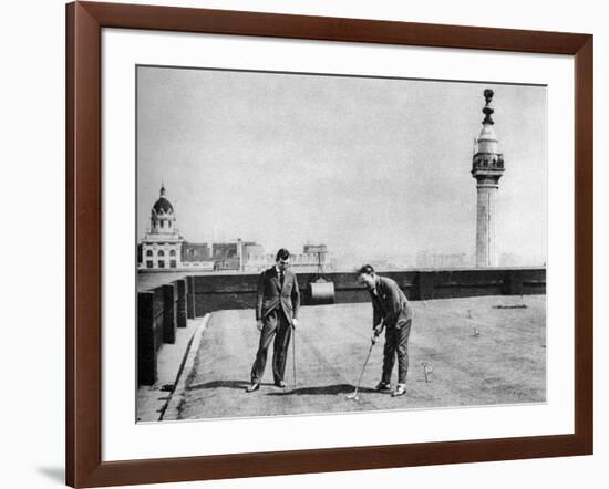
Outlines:
{"type": "Polygon", "coordinates": [[[546,85],[135,70],[138,423],[546,403],[546,85]]]}

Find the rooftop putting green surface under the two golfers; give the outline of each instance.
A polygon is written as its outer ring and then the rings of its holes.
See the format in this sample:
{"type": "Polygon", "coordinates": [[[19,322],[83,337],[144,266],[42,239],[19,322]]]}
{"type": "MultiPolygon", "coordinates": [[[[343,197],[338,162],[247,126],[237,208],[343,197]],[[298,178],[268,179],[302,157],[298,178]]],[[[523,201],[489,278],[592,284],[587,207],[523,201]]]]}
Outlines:
{"type": "MultiPolygon", "coordinates": [[[[372,329],[370,303],[306,306],[286,367],[272,385],[269,348],[261,388],[246,394],[258,346],[254,310],[214,312],[186,382],[178,418],[256,417],[458,407],[546,399],[546,296],[483,296],[412,302],[407,393],[373,391],[384,339],[373,347],[359,400],[350,400],[372,329]],[[431,366],[427,379],[424,364],[431,366]]],[[[293,337],[292,337],[293,339],[293,337]]],[[[393,372],[395,382],[396,365],[393,372]]]]}

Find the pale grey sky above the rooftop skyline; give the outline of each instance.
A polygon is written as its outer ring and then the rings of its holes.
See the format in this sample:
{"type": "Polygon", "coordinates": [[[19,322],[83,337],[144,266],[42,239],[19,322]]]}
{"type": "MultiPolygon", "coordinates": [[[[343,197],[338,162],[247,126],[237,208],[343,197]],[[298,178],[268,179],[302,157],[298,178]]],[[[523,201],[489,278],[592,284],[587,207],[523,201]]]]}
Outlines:
{"type": "Polygon", "coordinates": [[[473,82],[140,66],[138,238],[164,184],[192,242],[323,242],[371,260],[474,253],[469,171],[487,87],[506,168],[497,251],[538,260],[547,89],[473,82]]]}

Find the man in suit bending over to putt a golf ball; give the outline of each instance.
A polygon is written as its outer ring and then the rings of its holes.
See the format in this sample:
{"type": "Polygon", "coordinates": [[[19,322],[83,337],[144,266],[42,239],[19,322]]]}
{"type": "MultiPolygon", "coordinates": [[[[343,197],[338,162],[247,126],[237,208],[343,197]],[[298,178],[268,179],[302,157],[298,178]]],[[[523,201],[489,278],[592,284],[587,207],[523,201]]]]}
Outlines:
{"type": "Polygon", "coordinates": [[[370,292],[372,299],[372,342],[376,343],[379,335],[385,329],[385,346],[383,350],[383,374],[376,391],[391,391],[391,372],[398,356],[398,384],[392,392],[393,397],[406,393],[406,375],[409,372],[409,336],[412,325],[412,308],[406,295],[395,281],[380,277],[370,264],[358,270],[358,281],[370,292]]]}

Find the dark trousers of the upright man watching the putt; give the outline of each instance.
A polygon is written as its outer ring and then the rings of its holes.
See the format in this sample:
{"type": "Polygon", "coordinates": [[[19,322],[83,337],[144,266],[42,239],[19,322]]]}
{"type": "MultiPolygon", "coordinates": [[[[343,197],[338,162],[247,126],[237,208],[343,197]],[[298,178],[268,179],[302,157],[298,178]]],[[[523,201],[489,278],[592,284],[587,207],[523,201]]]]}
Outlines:
{"type": "Polygon", "coordinates": [[[267,353],[270,342],[275,337],[272,347],[272,376],[275,382],[283,381],[288,346],[290,345],[291,324],[283,311],[279,308],[271,311],[264,320],[265,325],[260,333],[258,353],[251,367],[251,383],[257,384],[262,379],[267,364],[267,353]]]}

